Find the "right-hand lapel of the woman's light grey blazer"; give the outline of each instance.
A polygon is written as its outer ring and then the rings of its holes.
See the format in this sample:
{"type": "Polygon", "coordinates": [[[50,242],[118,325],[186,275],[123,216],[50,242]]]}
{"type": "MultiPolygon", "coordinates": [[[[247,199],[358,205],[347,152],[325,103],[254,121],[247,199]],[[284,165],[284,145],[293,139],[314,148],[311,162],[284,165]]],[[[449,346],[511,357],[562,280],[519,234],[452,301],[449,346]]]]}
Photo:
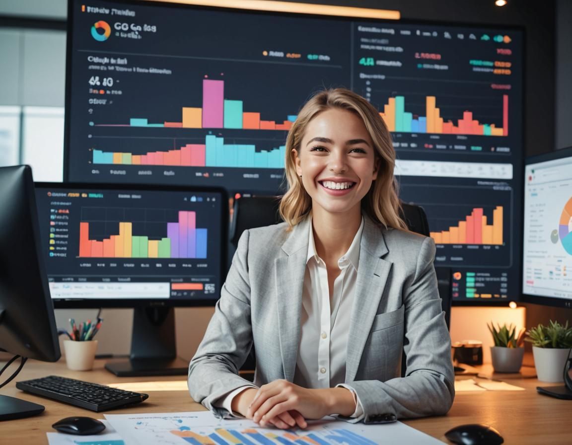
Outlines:
{"type": "Polygon", "coordinates": [[[346,382],[352,382],[358,372],[363,348],[370,335],[392,264],[382,259],[388,252],[382,231],[370,218],[364,218],[358,279],[349,325],[346,382]]]}

